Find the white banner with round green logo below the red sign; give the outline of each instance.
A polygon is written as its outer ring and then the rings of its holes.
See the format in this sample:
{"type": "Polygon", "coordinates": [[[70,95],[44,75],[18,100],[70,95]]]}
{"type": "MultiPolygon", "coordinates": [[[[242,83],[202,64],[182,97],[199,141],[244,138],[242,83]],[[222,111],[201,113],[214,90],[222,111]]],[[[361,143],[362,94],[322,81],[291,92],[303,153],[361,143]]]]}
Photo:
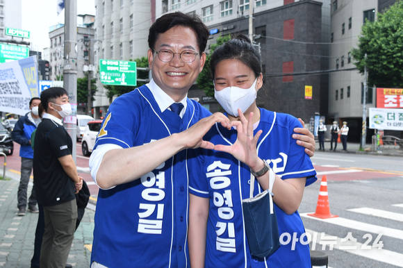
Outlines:
{"type": "Polygon", "coordinates": [[[403,131],[403,109],[370,108],[370,128],[403,131]]]}

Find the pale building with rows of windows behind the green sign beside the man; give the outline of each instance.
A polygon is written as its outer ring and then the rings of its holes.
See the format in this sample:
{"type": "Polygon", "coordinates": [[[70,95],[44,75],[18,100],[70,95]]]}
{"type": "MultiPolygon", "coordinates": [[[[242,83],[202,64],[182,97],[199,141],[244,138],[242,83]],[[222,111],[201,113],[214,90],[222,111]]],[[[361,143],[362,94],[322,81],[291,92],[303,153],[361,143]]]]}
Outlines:
{"type": "MultiPolygon", "coordinates": [[[[151,6],[155,0],[95,0],[94,65],[100,59],[133,60],[147,57],[148,31],[152,24],[151,6]]],[[[110,99],[97,79],[95,117],[106,114],[110,99]],[[102,112],[101,112],[102,111],[102,112]]]]}

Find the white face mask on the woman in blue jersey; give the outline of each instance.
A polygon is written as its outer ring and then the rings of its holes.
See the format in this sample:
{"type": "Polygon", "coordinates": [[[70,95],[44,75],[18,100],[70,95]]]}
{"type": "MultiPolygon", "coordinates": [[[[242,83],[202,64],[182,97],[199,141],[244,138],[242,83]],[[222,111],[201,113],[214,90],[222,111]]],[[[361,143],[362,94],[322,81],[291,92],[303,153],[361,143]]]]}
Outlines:
{"type": "Polygon", "coordinates": [[[233,117],[238,117],[238,108],[242,112],[245,112],[256,99],[256,81],[254,81],[252,87],[240,88],[240,87],[225,87],[223,90],[217,91],[214,88],[214,97],[218,103],[224,108],[224,110],[233,117]]]}

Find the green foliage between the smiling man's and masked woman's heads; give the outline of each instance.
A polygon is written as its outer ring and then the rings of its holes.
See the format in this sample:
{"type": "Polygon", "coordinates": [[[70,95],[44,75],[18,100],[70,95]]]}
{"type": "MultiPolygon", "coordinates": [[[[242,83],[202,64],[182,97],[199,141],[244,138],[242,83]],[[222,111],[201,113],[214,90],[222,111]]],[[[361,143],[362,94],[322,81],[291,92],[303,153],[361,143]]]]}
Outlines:
{"type": "Polygon", "coordinates": [[[217,42],[215,44],[211,44],[210,46],[210,53],[208,53],[206,58],[206,63],[204,64],[203,71],[197,77],[197,86],[206,93],[208,97],[214,97],[214,85],[213,79],[211,78],[210,74],[210,56],[213,51],[219,47],[220,45],[224,44],[231,40],[231,35],[224,35],[217,38],[217,42]]]}

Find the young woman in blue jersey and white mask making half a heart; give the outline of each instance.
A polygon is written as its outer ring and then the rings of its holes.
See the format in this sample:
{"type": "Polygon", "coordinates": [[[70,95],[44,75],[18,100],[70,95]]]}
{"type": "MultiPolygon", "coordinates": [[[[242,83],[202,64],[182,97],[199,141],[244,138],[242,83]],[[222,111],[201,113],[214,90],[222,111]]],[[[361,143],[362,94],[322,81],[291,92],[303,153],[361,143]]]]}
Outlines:
{"type": "Polygon", "coordinates": [[[297,208],[304,187],[317,178],[309,156],[292,137],[301,124],[295,117],[256,106],[263,76],[259,55],[245,35],[215,49],[210,68],[215,99],[236,129],[216,124],[204,137],[215,150],[189,151],[191,267],[311,267],[306,237],[294,246],[292,241],[283,243],[268,258],[252,256],[242,215],[251,172],[258,181],[256,196],[268,189],[274,171],[279,234],[286,241],[288,235],[299,239],[305,233],[297,208]],[[268,165],[272,171],[265,172],[268,165]]]}

